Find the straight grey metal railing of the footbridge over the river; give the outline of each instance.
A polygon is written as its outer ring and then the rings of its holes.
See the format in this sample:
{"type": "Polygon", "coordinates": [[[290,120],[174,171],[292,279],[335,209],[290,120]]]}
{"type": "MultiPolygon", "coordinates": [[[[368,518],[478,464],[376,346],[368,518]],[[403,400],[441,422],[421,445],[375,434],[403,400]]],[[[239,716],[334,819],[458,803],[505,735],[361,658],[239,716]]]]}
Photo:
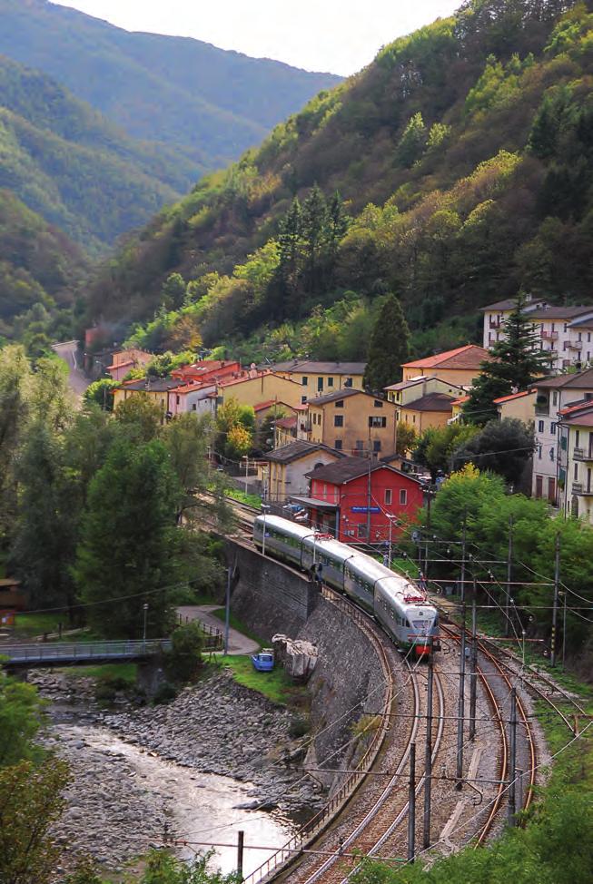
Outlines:
{"type": "Polygon", "coordinates": [[[93,660],[133,660],[171,650],[171,639],[154,638],[112,642],[55,642],[9,644],[0,649],[4,663],[71,663],[93,660]]]}

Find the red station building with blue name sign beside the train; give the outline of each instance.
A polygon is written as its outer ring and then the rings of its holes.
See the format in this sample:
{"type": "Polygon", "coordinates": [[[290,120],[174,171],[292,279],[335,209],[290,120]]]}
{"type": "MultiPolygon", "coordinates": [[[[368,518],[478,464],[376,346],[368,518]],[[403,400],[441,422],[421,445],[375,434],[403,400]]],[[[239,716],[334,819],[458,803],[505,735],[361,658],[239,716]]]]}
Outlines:
{"type": "Polygon", "coordinates": [[[398,523],[409,523],[423,503],[418,479],[381,461],[344,457],[307,476],[310,496],[291,499],[309,510],[311,525],[343,543],[387,540],[390,522],[391,535],[396,537],[401,530],[398,523]]]}

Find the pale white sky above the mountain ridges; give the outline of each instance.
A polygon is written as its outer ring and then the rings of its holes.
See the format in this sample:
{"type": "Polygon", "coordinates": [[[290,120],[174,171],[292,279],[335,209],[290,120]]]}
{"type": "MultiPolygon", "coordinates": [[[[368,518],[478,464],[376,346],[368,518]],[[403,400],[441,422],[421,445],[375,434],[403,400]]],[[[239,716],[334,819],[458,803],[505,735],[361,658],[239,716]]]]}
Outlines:
{"type": "Polygon", "coordinates": [[[308,71],[354,74],[461,0],[53,0],[129,31],[189,36],[308,71]]]}

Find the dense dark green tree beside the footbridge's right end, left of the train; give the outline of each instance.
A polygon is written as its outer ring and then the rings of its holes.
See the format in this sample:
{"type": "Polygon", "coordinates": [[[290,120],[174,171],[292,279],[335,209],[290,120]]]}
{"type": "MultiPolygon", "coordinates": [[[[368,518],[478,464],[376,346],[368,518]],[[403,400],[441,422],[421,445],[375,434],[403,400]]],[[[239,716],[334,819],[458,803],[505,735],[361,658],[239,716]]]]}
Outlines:
{"type": "Polygon", "coordinates": [[[163,443],[114,444],[91,482],[74,577],[87,619],[105,637],[139,638],[171,626],[181,490],[163,443]],[[117,601],[116,601],[117,600],[117,601]]]}

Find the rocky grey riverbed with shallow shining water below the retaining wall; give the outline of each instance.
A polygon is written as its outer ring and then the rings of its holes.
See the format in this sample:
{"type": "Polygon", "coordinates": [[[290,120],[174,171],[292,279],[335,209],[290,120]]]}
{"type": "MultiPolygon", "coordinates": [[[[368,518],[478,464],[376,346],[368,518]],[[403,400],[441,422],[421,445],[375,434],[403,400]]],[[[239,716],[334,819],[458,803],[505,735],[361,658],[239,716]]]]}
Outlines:
{"type": "MultiPolygon", "coordinates": [[[[124,864],[163,840],[279,847],[295,820],[321,805],[310,780],[288,770],[298,755],[291,712],[216,673],[168,704],[133,707],[124,696],[100,708],[94,681],[41,671],[31,675],[50,701],[47,742],[69,761],[72,782],[55,832],[64,869],[90,854],[105,868],[124,864]]],[[[200,845],[178,848],[192,855],[200,845]]],[[[234,850],[219,849],[230,870],[234,850]]],[[[268,856],[247,850],[245,871],[268,856]]]]}

